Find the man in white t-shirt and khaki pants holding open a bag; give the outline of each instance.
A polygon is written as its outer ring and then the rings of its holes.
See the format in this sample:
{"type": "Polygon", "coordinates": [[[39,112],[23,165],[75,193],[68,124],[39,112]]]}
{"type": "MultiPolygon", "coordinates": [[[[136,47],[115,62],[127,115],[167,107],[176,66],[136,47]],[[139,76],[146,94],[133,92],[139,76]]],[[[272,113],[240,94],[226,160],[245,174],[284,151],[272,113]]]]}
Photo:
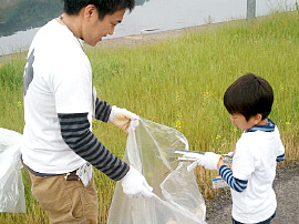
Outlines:
{"type": "Polygon", "coordinates": [[[138,116],[95,96],[91,64],[82,49],[82,41],[95,45],[113,34],[125,10],[133,8],[134,0],[64,0],[63,14],[41,28],[29,49],[21,152],[32,194],[48,211],[50,223],[97,223],[90,164],[114,181],[122,180],[131,197],[153,195],[144,176],[91,132],[92,116],[123,130],[138,116]]]}

